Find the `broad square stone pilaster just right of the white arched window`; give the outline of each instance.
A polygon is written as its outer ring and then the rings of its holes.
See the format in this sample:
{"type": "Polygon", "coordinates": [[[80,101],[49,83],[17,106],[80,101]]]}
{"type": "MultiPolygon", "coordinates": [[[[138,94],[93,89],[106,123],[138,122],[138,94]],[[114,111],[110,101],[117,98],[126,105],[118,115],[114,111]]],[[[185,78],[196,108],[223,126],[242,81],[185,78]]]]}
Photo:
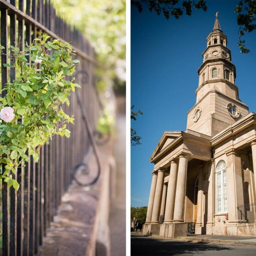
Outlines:
{"type": "MultiPolygon", "coordinates": [[[[226,182],[227,182],[227,213],[229,214],[229,224],[235,225],[238,222],[238,205],[243,201],[243,181],[241,157],[231,149],[226,152],[226,182]]],[[[226,224],[228,226],[229,224],[226,224]]]]}

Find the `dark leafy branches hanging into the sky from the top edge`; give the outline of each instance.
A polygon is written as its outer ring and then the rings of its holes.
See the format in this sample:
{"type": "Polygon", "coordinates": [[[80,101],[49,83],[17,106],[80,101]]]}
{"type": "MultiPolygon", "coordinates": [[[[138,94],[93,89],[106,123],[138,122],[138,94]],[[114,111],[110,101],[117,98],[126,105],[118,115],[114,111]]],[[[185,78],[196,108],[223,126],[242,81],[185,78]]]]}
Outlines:
{"type": "MultiPolygon", "coordinates": [[[[157,15],[164,14],[166,20],[169,20],[170,16],[178,19],[186,12],[186,15],[191,16],[192,7],[199,10],[202,9],[204,12],[207,11],[206,2],[204,0],[195,1],[179,1],[179,0],[131,0],[131,5],[137,7],[141,13],[144,5],[147,5],[150,12],[155,11],[157,15]]],[[[238,46],[241,53],[249,53],[250,50],[245,46],[245,40],[241,39],[241,36],[245,32],[252,32],[256,29],[256,1],[255,0],[243,0],[236,5],[234,10],[238,13],[236,21],[239,25],[239,41],[238,46]]]]}

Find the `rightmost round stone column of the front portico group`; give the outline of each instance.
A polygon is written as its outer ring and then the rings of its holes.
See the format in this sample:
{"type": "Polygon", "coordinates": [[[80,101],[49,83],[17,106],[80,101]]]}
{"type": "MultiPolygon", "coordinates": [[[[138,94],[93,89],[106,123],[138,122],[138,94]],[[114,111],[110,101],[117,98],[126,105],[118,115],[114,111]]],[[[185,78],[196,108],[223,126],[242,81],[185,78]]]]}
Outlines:
{"type": "Polygon", "coordinates": [[[185,196],[187,182],[187,156],[179,156],[178,177],[176,186],[174,222],[184,222],[185,196]]]}

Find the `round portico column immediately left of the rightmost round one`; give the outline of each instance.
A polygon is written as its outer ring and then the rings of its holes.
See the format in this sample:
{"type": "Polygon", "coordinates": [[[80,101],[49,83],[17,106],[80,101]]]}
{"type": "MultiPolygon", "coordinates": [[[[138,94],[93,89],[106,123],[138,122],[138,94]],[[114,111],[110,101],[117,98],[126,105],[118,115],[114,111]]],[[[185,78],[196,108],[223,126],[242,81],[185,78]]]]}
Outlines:
{"type": "Polygon", "coordinates": [[[178,170],[177,167],[178,165],[175,162],[175,160],[172,160],[170,162],[170,175],[169,175],[169,184],[167,188],[164,223],[170,223],[173,221],[176,182],[177,182],[177,170],[178,170]]]}

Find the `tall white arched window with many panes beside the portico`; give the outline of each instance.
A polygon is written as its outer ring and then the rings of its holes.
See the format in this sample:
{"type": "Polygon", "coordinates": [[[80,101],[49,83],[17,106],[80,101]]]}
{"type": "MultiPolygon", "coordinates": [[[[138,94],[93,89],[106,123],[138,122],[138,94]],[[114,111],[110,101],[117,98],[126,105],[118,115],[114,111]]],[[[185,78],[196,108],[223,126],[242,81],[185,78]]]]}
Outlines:
{"type": "Polygon", "coordinates": [[[226,164],[223,160],[216,166],[216,213],[227,212],[226,164]]]}

